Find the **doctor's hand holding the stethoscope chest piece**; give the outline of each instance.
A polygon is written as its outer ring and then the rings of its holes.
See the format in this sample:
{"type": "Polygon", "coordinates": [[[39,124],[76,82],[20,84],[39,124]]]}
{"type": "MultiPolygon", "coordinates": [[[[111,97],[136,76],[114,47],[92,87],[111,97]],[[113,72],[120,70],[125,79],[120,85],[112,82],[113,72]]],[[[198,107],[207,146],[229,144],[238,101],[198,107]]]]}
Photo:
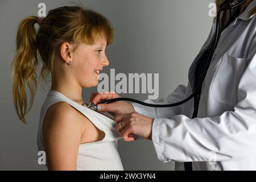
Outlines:
{"type": "Polygon", "coordinates": [[[117,93],[98,93],[93,92],[90,96],[90,102],[93,102],[98,107],[98,111],[107,111],[112,115],[115,114],[128,114],[134,112],[133,105],[125,101],[117,101],[110,104],[98,104],[102,100],[111,100],[113,98],[119,98],[117,93]]]}

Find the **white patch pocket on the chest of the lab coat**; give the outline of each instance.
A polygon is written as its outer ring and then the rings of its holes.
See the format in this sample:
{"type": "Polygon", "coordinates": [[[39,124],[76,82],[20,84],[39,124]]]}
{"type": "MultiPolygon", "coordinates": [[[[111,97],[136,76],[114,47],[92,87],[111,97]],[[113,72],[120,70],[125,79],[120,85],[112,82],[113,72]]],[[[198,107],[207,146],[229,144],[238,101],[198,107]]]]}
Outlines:
{"type": "Polygon", "coordinates": [[[225,54],[215,73],[212,83],[212,94],[217,102],[235,106],[237,89],[247,66],[246,58],[225,54]]]}

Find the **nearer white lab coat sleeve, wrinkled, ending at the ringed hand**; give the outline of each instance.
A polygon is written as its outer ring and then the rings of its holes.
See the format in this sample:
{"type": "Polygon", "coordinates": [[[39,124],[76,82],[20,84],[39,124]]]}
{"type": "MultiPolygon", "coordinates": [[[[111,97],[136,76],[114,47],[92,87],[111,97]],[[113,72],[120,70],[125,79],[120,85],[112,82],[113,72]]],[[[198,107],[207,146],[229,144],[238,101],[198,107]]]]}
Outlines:
{"type": "MultiPolygon", "coordinates": [[[[256,152],[256,48],[238,84],[234,110],[216,117],[155,119],[152,141],[163,163],[242,159],[256,152]]],[[[250,56],[249,56],[250,57],[250,56]]]]}

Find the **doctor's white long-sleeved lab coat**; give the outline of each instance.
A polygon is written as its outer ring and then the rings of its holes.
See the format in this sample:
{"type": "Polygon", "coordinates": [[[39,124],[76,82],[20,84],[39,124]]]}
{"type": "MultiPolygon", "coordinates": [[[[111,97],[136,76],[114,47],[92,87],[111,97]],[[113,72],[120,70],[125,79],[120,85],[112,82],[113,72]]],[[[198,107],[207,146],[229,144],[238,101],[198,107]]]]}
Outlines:
{"type": "MultiPolygon", "coordinates": [[[[193,99],[166,108],[133,104],[138,113],[155,118],[152,142],[158,159],[192,162],[193,170],[256,170],[256,6],[246,10],[226,28],[205,77],[197,118],[193,99]]],[[[187,86],[179,85],[169,96],[151,104],[171,104],[191,95],[200,53],[213,40],[216,24],[189,68],[187,86]]],[[[194,85],[195,86],[195,85],[194,85]]],[[[195,88],[193,88],[195,89],[195,88]]]]}

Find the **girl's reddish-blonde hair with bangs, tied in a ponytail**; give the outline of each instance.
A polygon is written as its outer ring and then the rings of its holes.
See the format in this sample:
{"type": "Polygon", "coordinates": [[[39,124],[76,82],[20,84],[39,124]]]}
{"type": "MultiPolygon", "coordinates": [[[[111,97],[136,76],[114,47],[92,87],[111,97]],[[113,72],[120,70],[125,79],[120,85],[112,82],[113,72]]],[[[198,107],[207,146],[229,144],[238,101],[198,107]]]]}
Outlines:
{"type": "MultiPolygon", "coordinates": [[[[13,87],[13,101],[19,119],[26,123],[24,115],[30,110],[34,102],[37,88],[38,52],[43,65],[40,72],[41,83],[52,72],[55,53],[63,42],[74,44],[94,44],[99,36],[107,39],[107,44],[113,42],[113,27],[105,16],[93,10],[79,6],[63,6],[50,10],[38,31],[35,23],[39,23],[37,16],[24,18],[16,34],[16,55],[11,64],[13,87]],[[30,102],[27,108],[27,94],[25,84],[30,90],[30,102]]],[[[75,51],[74,49],[74,51],[75,51]]]]}

